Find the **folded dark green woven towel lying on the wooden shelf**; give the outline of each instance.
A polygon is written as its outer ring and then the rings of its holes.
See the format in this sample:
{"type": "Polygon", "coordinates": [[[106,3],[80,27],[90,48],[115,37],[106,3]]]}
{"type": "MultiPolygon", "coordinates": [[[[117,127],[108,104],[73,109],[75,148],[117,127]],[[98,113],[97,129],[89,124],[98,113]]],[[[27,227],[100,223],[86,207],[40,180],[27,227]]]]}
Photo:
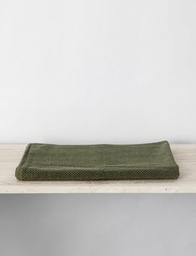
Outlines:
{"type": "Polygon", "coordinates": [[[138,145],[28,144],[16,169],[22,181],[176,179],[168,141],[138,145]]]}

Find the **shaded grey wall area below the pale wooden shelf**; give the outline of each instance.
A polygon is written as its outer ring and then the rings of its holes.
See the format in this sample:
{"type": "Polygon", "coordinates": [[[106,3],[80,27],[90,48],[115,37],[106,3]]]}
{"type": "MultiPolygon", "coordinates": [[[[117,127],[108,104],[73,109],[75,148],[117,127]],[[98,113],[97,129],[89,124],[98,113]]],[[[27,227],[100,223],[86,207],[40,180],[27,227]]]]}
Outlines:
{"type": "Polygon", "coordinates": [[[195,256],[191,194],[0,195],[6,256],[195,256]]]}

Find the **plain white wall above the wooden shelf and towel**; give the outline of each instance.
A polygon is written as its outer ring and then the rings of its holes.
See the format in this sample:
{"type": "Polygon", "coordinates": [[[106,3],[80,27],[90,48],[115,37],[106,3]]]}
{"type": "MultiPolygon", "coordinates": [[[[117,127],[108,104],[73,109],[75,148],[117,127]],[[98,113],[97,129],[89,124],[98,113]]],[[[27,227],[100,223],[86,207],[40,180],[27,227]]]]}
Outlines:
{"type": "Polygon", "coordinates": [[[0,1],[0,142],[195,142],[195,11],[0,1]]]}

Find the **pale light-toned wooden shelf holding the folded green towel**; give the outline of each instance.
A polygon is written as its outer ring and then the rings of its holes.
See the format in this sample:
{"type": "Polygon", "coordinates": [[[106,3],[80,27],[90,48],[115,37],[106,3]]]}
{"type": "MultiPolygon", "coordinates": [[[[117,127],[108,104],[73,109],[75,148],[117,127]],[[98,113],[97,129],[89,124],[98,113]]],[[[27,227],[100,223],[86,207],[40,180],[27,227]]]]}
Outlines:
{"type": "Polygon", "coordinates": [[[0,193],[196,193],[196,144],[172,144],[178,180],[20,182],[15,169],[26,145],[0,145],[0,193]]]}

